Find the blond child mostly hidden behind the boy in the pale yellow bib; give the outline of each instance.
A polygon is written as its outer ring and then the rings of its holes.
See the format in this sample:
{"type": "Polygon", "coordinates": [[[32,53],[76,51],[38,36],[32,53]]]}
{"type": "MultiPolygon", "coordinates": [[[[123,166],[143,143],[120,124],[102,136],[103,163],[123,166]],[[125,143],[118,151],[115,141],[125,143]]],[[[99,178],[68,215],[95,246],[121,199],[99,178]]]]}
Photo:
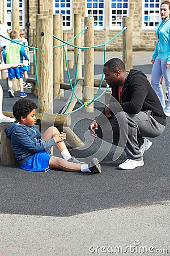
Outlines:
{"type": "MultiPolygon", "coordinates": [[[[28,46],[28,41],[27,39],[25,38],[25,32],[23,30],[20,30],[20,33],[19,33],[19,40],[20,40],[20,43],[23,43],[24,46],[28,46]]],[[[29,59],[29,48],[28,47],[25,47],[25,52],[27,53],[27,56],[28,56],[28,59],[29,59]]],[[[27,83],[27,79],[28,79],[28,74],[27,74],[27,71],[29,71],[29,61],[28,60],[25,60],[25,58],[23,59],[23,77],[24,77],[24,89],[29,89],[31,88],[31,84],[28,84],[27,83]]]]}

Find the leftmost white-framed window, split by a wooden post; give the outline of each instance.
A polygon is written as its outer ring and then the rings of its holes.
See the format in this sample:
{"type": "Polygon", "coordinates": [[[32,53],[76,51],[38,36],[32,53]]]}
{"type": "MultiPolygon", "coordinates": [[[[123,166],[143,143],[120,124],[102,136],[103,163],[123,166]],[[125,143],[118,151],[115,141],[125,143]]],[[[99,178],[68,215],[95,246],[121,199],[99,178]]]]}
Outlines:
{"type": "MultiPolygon", "coordinates": [[[[19,28],[25,28],[25,5],[24,0],[19,0],[19,28]]],[[[12,1],[5,1],[5,24],[12,29],[12,1]]]]}

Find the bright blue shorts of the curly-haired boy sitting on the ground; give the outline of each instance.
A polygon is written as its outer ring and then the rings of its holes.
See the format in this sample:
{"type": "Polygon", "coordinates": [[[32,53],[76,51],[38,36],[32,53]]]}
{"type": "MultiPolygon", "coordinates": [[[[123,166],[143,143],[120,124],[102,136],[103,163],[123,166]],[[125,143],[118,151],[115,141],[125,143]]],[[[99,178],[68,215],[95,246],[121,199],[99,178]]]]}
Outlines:
{"type": "Polygon", "coordinates": [[[50,150],[42,150],[37,152],[31,158],[29,158],[25,163],[20,166],[22,169],[32,172],[47,172],[49,171],[50,158],[52,157],[50,150]]]}

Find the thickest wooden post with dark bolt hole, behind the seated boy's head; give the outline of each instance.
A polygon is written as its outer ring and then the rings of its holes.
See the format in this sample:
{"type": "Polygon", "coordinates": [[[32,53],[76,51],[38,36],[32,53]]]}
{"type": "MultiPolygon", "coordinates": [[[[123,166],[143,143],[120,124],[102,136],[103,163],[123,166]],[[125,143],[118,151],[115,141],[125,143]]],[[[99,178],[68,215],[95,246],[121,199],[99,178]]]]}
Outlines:
{"type": "Polygon", "coordinates": [[[39,19],[39,112],[53,113],[53,22],[39,19]]]}

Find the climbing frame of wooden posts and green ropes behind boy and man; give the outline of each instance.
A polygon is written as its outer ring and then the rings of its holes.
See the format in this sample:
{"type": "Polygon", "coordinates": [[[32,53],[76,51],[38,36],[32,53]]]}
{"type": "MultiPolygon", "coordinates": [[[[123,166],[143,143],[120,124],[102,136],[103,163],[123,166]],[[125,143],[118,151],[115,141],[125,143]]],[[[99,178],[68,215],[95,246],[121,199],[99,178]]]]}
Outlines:
{"type": "MultiPolygon", "coordinates": [[[[53,114],[53,95],[54,97],[58,96],[59,93],[62,92],[62,89],[72,89],[71,96],[67,100],[67,103],[62,110],[62,118],[63,116],[69,118],[71,113],[78,111],[78,109],[73,110],[77,101],[81,104],[80,108],[85,107],[87,112],[94,111],[94,101],[101,97],[108,88],[103,81],[103,74],[100,82],[96,82],[94,80],[94,48],[104,47],[105,63],[107,44],[120,34],[123,35],[124,45],[122,50],[126,69],[130,70],[132,68],[132,22],[131,18],[123,19],[123,24],[124,26],[127,25],[128,29],[126,29],[127,27],[125,26],[122,31],[120,31],[108,42],[99,46],[94,46],[94,17],[85,17],[85,26],[84,29],[81,30],[79,21],[80,15],[75,14],[74,31],[76,31],[77,34],[73,39],[66,42],[62,38],[63,32],[61,14],[53,15],[53,19],[41,18],[41,15],[37,15],[37,31],[35,37],[36,47],[29,47],[33,49],[36,79],[32,79],[30,81],[38,87],[36,92],[38,93],[39,98],[39,112],[42,113],[43,118],[45,118],[47,113],[48,117],[49,114],[53,114]],[[79,35],[81,35],[82,32],[84,32],[84,47],[80,45],[81,40],[78,40],[78,38],[80,38],[79,35]],[[50,38],[53,38],[53,40],[50,40],[50,38]],[[71,44],[72,40],[74,40],[74,44],[71,44]],[[66,45],[74,47],[75,77],[72,80],[69,73],[66,45]],[[84,77],[82,77],[82,49],[84,50],[84,77]],[[69,77],[70,84],[65,84],[63,82],[63,51],[65,53],[67,75],[69,77]],[[98,87],[95,97],[94,86],[98,87]],[[105,90],[103,90],[103,93],[101,93],[100,96],[97,96],[101,87],[105,87],[105,90]],[[84,93],[84,102],[80,100],[82,98],[82,92],[84,93]]],[[[27,81],[29,82],[29,79],[27,81]]],[[[41,118],[39,118],[40,113],[36,114],[39,120],[41,120],[41,118]]],[[[10,117],[12,115],[12,113],[6,112],[5,114],[10,117]]],[[[57,118],[58,117],[59,114],[57,114],[57,118]]],[[[65,118],[63,118],[63,120],[64,119],[65,118]]],[[[44,121],[48,122],[48,118],[44,119],[44,121]]],[[[54,125],[57,126],[59,130],[62,130],[63,126],[65,127],[65,132],[70,134],[67,138],[70,138],[69,144],[71,146],[83,146],[84,143],[80,141],[76,134],[74,134],[74,132],[70,129],[69,122],[67,121],[66,123],[67,125],[63,125],[63,123],[62,125],[58,125],[58,120],[55,120],[54,125]]],[[[41,121],[37,124],[41,125],[41,121]]]]}

